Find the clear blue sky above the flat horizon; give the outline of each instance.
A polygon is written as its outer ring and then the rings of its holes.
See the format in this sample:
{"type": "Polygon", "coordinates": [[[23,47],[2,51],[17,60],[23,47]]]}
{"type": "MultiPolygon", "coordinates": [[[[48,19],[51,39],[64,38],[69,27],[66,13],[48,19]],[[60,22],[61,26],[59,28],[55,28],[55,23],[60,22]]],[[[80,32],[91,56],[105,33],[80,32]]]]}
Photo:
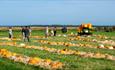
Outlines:
{"type": "Polygon", "coordinates": [[[0,0],[0,25],[115,25],[114,0],[0,0]]]}

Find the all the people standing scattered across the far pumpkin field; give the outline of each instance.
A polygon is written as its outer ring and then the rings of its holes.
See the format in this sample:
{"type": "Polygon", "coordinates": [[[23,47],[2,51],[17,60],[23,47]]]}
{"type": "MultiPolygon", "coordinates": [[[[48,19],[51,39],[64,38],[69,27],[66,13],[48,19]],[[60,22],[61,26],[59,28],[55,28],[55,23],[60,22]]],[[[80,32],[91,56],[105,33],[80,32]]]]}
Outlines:
{"type": "MultiPolygon", "coordinates": [[[[67,32],[67,28],[63,27],[61,29],[62,33],[66,33],[67,32]]],[[[24,41],[28,41],[30,42],[30,36],[31,36],[31,28],[28,26],[22,27],[21,33],[22,33],[22,38],[24,41]]],[[[47,38],[48,36],[56,36],[57,34],[57,28],[56,27],[51,27],[49,28],[48,26],[46,27],[45,30],[45,37],[47,38]]],[[[13,31],[12,31],[12,27],[9,27],[9,38],[12,39],[13,38],[13,31]]]]}

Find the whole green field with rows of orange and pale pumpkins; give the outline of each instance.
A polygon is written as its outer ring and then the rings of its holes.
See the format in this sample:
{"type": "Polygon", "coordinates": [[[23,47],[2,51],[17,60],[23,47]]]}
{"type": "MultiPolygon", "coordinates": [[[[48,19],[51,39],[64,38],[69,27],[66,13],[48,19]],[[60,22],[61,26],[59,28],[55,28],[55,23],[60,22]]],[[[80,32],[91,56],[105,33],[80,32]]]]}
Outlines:
{"type": "Polygon", "coordinates": [[[24,42],[21,30],[0,30],[0,70],[115,70],[115,32],[77,36],[76,29],[45,38],[45,30],[32,30],[24,42]]]}

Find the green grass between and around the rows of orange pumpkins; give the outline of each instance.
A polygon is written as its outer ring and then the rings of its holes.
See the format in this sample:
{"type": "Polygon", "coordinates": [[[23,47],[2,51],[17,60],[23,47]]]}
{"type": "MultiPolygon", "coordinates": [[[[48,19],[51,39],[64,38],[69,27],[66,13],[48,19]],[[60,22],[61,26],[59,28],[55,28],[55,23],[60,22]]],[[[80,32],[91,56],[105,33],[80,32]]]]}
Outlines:
{"type": "MultiPolygon", "coordinates": [[[[76,33],[76,30],[69,30],[67,34],[71,34],[73,32],[76,33]]],[[[57,32],[58,34],[62,34],[61,31],[57,32]]],[[[108,38],[107,40],[113,40],[115,42],[115,32],[94,32],[94,35],[106,35],[108,38]]],[[[21,32],[14,31],[14,36],[16,38],[21,39],[21,32]]],[[[36,30],[32,31],[32,36],[44,36],[43,30],[36,30]]],[[[8,37],[7,31],[0,31],[0,38],[8,37]]],[[[103,54],[110,54],[115,56],[115,50],[110,49],[99,49],[99,48],[88,48],[88,47],[79,47],[79,46],[71,46],[67,47],[64,45],[49,45],[43,44],[35,41],[39,40],[46,40],[46,41],[55,41],[55,42],[72,42],[72,43],[88,43],[92,45],[98,45],[99,43],[96,42],[86,42],[80,40],[68,40],[71,37],[63,37],[63,36],[56,36],[56,37],[49,37],[49,38],[31,38],[31,42],[27,43],[28,45],[35,45],[35,46],[47,46],[49,48],[56,48],[56,49],[71,49],[71,50],[79,50],[84,52],[93,52],[93,53],[103,53],[103,54]]],[[[87,37],[89,38],[89,37],[87,37]]],[[[96,37],[90,37],[93,39],[97,39],[96,37]]],[[[101,40],[101,39],[99,39],[101,40]]],[[[0,42],[10,42],[8,40],[0,40],[0,42]]],[[[25,43],[23,40],[16,41],[17,43],[25,43]]],[[[60,61],[64,63],[64,67],[62,70],[115,70],[115,61],[108,60],[108,59],[97,59],[97,58],[84,58],[77,55],[64,55],[64,54],[56,54],[51,53],[44,50],[35,50],[35,49],[27,49],[27,48],[18,48],[14,46],[0,46],[0,49],[7,49],[11,52],[27,55],[30,57],[40,57],[43,59],[51,59],[54,61],[60,61]]],[[[23,64],[19,62],[14,62],[12,60],[1,58],[0,57],[0,70],[45,70],[45,68],[36,67],[28,64],[23,64]]]]}

